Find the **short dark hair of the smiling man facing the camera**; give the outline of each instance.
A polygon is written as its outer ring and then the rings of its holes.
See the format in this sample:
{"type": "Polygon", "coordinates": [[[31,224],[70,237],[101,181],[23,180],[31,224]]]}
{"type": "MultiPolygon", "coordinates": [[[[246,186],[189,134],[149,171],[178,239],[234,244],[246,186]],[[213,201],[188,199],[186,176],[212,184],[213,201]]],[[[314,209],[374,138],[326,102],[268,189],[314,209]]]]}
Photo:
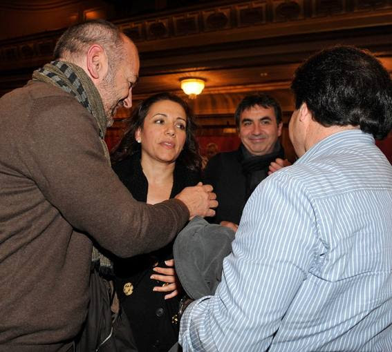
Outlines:
{"type": "Polygon", "coordinates": [[[277,124],[279,125],[282,121],[282,110],[278,101],[270,95],[259,93],[254,95],[247,95],[241,100],[241,103],[236,108],[234,113],[234,119],[236,121],[237,128],[240,128],[241,114],[244,110],[248,110],[253,106],[262,106],[263,108],[274,108],[275,117],[277,118],[277,124]]]}

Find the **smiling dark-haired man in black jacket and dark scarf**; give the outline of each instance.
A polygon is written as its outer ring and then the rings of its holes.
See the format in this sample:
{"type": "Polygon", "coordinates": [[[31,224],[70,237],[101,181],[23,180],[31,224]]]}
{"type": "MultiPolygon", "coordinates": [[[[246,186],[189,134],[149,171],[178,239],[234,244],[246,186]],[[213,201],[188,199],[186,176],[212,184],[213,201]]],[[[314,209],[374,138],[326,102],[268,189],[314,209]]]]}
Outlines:
{"type": "Polygon", "coordinates": [[[210,222],[238,228],[243,207],[254,188],[271,172],[287,166],[278,140],[282,131],[279,103],[269,95],[246,96],[234,113],[241,139],[238,150],[209,160],[204,181],[212,184],[219,206],[210,222]]]}

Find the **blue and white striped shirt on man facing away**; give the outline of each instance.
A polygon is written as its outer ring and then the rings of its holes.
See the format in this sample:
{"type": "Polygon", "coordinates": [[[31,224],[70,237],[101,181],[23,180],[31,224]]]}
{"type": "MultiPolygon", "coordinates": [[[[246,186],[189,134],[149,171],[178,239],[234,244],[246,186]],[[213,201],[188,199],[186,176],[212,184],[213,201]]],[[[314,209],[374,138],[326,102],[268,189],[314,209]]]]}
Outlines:
{"type": "Polygon", "coordinates": [[[336,133],[254,190],[184,351],[392,351],[392,166],[336,133]]]}

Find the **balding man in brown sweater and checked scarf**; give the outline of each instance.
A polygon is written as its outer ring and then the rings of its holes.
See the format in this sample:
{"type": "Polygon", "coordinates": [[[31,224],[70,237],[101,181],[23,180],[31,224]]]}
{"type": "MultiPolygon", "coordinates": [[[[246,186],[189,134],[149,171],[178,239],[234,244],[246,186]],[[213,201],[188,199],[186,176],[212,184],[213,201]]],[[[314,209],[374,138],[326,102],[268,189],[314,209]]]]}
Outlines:
{"type": "Polygon", "coordinates": [[[136,202],[104,134],[131,107],[138,51],[104,21],[68,29],[55,59],[0,99],[0,351],[72,351],[86,318],[93,242],[120,257],[213,215],[211,186],[136,202]],[[151,235],[153,234],[153,235],[151,235]]]}

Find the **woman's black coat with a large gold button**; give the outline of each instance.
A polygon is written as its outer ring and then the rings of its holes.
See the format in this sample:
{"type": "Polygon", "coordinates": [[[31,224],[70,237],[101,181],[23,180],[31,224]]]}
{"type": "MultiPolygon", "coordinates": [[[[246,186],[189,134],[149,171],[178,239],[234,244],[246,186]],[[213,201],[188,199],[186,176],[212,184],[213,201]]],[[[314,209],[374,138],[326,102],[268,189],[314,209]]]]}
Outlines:
{"type": "MultiPolygon", "coordinates": [[[[147,201],[148,183],[142,173],[140,153],[124,159],[113,169],[135,199],[140,202],[147,201]]],[[[194,186],[199,180],[199,173],[192,172],[177,162],[170,197],[180,193],[186,186],[194,186]]],[[[175,321],[175,315],[178,312],[180,298],[177,296],[164,300],[165,293],[152,291],[154,286],[161,286],[163,282],[150,279],[155,273],[152,270],[154,264],[158,263],[158,266],[165,267],[165,260],[173,258],[172,247],[173,242],[147,255],[115,261],[115,289],[141,352],[166,352],[178,340],[179,326],[175,321]],[[125,285],[128,289],[124,289],[125,285]]]]}

